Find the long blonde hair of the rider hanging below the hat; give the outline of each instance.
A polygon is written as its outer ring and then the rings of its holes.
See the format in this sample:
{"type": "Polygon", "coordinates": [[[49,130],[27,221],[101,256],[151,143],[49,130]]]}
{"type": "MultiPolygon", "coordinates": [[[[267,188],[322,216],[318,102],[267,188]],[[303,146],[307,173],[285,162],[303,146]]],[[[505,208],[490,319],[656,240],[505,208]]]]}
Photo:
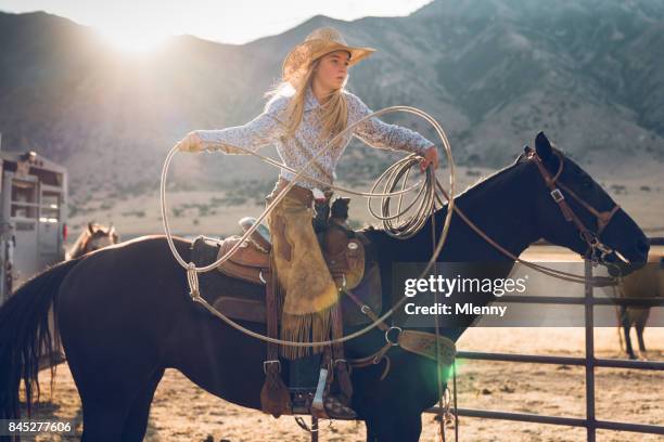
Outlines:
{"type": "MultiPolygon", "coordinates": [[[[311,87],[315,77],[315,69],[318,67],[321,57],[316,58],[309,67],[307,68],[307,73],[304,76],[304,79],[299,82],[299,84],[291,84],[283,79],[279,82],[274,88],[266,92],[266,96],[272,96],[268,104],[276,100],[281,95],[292,95],[289,102],[289,106],[286,107],[286,136],[292,138],[295,135],[295,131],[302,123],[302,118],[304,116],[304,105],[305,98],[307,93],[307,89],[311,87]]],[[[348,82],[348,76],[344,80],[344,83],[341,88],[333,90],[330,95],[328,95],[328,101],[325,104],[321,105],[321,122],[322,122],[322,131],[321,138],[322,140],[330,140],[334,135],[336,135],[342,130],[346,129],[348,125],[348,104],[346,102],[346,96],[344,95],[345,86],[348,82]]],[[[339,140],[337,143],[341,143],[343,140],[339,140]]]]}

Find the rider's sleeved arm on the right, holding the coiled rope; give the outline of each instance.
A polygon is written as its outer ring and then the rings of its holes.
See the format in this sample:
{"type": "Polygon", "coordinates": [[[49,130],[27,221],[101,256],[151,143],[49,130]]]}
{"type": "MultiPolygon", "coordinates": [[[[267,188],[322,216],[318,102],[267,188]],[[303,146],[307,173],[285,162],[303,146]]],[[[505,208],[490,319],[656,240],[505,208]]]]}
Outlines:
{"type": "MultiPolygon", "coordinates": [[[[356,114],[355,119],[350,121],[357,121],[373,114],[373,110],[357,95],[348,95],[348,109],[356,114]]],[[[356,126],[353,134],[376,148],[414,152],[421,156],[425,156],[429,147],[433,146],[435,148],[434,143],[418,132],[401,126],[388,125],[376,117],[369,118],[356,126]]]]}

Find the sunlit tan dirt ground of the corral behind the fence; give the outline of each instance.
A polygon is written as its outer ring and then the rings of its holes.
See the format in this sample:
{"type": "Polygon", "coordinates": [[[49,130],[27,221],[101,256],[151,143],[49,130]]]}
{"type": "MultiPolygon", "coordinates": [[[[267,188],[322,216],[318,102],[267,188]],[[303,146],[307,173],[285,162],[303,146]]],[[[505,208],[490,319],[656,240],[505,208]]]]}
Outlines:
{"type": "MultiPolygon", "coordinates": [[[[615,328],[596,328],[599,358],[618,358],[615,328]]],[[[664,360],[664,328],[646,330],[649,359],[664,360]]],[[[531,354],[583,356],[583,328],[471,328],[459,341],[459,349],[531,354]]],[[[585,416],[585,374],[583,367],[546,364],[461,361],[458,369],[460,407],[585,416]]],[[[49,374],[40,376],[44,395],[38,417],[65,419],[82,427],[82,413],[76,387],[66,364],[60,365],[55,391],[49,400],[49,374]]],[[[664,373],[637,369],[596,370],[597,417],[664,425],[664,373]]],[[[422,441],[435,441],[434,416],[422,417],[422,441]]],[[[321,424],[321,441],[365,441],[363,424],[336,421],[321,424]]],[[[585,430],[539,424],[493,419],[460,418],[464,441],[584,441],[585,430]]],[[[451,434],[451,433],[450,433],[451,434]]],[[[42,434],[38,441],[72,440],[42,434]]],[[[274,419],[263,413],[231,405],[196,387],[179,372],[169,369],[156,391],[145,441],[308,441],[308,434],[293,418],[274,419]]],[[[449,439],[448,439],[449,440],[449,439]]],[[[661,437],[600,431],[598,441],[661,441],[661,437]]]]}

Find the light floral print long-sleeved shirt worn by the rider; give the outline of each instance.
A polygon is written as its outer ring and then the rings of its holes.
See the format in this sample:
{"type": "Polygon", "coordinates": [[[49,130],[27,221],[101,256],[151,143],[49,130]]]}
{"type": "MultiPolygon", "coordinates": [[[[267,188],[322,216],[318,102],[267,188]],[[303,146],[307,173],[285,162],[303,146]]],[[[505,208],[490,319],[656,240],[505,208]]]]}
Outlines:
{"type": "MultiPolygon", "coordinates": [[[[344,91],[348,107],[348,126],[373,113],[355,94],[344,91]]],[[[285,109],[289,104],[289,95],[278,95],[270,100],[263,114],[244,126],[237,126],[221,130],[195,130],[194,132],[203,142],[203,148],[222,151],[226,154],[243,154],[237,146],[252,152],[258,151],[266,145],[276,144],[281,160],[289,167],[299,171],[321,150],[329,139],[320,140],[322,123],[320,119],[321,104],[314,95],[309,86],[305,94],[303,120],[295,131],[295,136],[285,136],[285,109]]],[[[314,161],[305,173],[321,180],[323,183],[332,184],[336,174],[334,169],[339,158],[350,142],[352,136],[357,136],[367,144],[376,148],[392,151],[414,152],[424,155],[426,148],[433,143],[424,136],[410,129],[388,125],[373,117],[358,125],[353,133],[347,133],[336,146],[330,146],[314,161]]],[[[280,177],[292,181],[295,174],[281,169],[280,177]]],[[[325,190],[324,184],[316,183],[301,177],[297,184],[314,188],[325,190]]]]}

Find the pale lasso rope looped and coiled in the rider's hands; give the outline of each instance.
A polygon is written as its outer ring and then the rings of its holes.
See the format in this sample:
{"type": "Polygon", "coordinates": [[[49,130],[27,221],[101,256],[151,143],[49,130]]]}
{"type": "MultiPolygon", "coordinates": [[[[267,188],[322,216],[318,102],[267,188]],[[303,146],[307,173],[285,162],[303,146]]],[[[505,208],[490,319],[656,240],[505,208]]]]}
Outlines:
{"type": "MultiPolygon", "coordinates": [[[[235,244],[225,256],[222,256],[221,258],[219,258],[217,261],[213,262],[212,264],[208,264],[206,266],[202,266],[202,268],[196,268],[195,264],[193,262],[186,262],[182,257],[180,256],[180,253],[178,252],[178,250],[175,247],[175,244],[173,242],[173,235],[170,233],[170,227],[168,225],[168,217],[166,214],[166,177],[168,173],[168,167],[170,166],[170,161],[173,160],[173,157],[175,156],[175,154],[178,152],[178,146],[175,145],[170,152],[168,153],[168,155],[166,156],[166,160],[164,161],[164,168],[162,170],[162,182],[161,182],[161,188],[159,188],[159,197],[161,197],[161,207],[162,207],[162,220],[164,223],[164,231],[166,233],[166,239],[168,242],[168,247],[170,248],[170,251],[173,252],[174,257],[176,258],[176,260],[178,261],[178,263],[180,263],[180,265],[182,265],[182,268],[184,268],[187,270],[187,278],[188,278],[188,283],[189,283],[189,288],[190,288],[190,295],[192,297],[192,300],[195,302],[201,303],[203,307],[205,307],[205,309],[207,309],[213,315],[219,317],[220,320],[222,320],[224,322],[226,322],[228,325],[230,325],[231,327],[238,329],[239,332],[242,332],[248,336],[252,336],[256,339],[260,339],[263,341],[266,342],[271,342],[271,343],[277,343],[277,344],[282,344],[282,346],[292,346],[292,347],[314,347],[314,346],[330,346],[333,343],[341,343],[341,342],[345,342],[348,341],[350,339],[355,339],[358,338],[362,335],[365,335],[366,333],[370,332],[371,329],[375,328],[381,322],[384,322],[387,317],[390,317],[397,309],[399,309],[407,300],[407,297],[401,297],[401,299],[394,304],[386,313],[384,313],[381,317],[378,318],[378,321],[374,321],[373,323],[369,324],[367,327],[357,330],[355,333],[352,333],[349,335],[343,336],[341,338],[337,339],[330,339],[330,340],[325,340],[325,341],[317,341],[317,342],[297,342],[297,341],[289,341],[289,340],[282,340],[282,339],[277,339],[277,338],[271,338],[269,336],[265,336],[261,335],[259,333],[255,333],[246,327],[243,327],[242,325],[238,324],[237,322],[234,322],[233,320],[231,320],[230,317],[228,317],[227,315],[225,315],[224,313],[219,312],[217,309],[215,309],[213,306],[210,306],[200,294],[199,291],[199,276],[197,273],[203,273],[203,272],[208,272],[213,269],[216,269],[219,264],[226,262],[234,252],[235,250],[240,247],[241,244],[243,244],[248,236],[258,227],[258,224],[263,221],[263,219],[271,211],[273,210],[273,208],[279,204],[279,202],[281,202],[281,199],[283,199],[283,197],[285,197],[286,193],[291,190],[291,187],[293,187],[293,185],[295,185],[295,182],[297,181],[297,179],[304,177],[306,179],[309,179],[311,181],[324,184],[331,188],[334,188],[339,192],[344,192],[344,193],[348,193],[348,194],[353,194],[353,195],[358,195],[358,196],[366,196],[366,197],[382,197],[383,198],[383,214],[381,217],[379,217],[380,219],[382,219],[383,221],[383,225],[385,227],[385,232],[392,236],[395,237],[401,237],[401,238],[407,238],[410,237],[412,235],[414,235],[414,233],[417,233],[418,229],[421,229],[422,225],[424,225],[424,223],[426,222],[426,217],[434,214],[434,209],[435,209],[435,191],[437,187],[440,187],[440,184],[438,183],[438,181],[436,180],[435,177],[435,171],[433,169],[433,167],[429,167],[425,171],[425,180],[424,183],[422,184],[418,196],[416,197],[416,199],[413,200],[412,204],[410,204],[405,210],[401,210],[400,212],[398,212],[397,214],[391,214],[388,212],[390,209],[390,198],[394,197],[394,196],[399,196],[403,198],[403,195],[407,192],[410,192],[411,190],[416,188],[416,186],[418,186],[420,182],[416,183],[413,186],[405,188],[406,185],[406,181],[404,181],[403,183],[403,188],[400,191],[397,192],[393,192],[394,187],[398,184],[398,178],[405,176],[405,178],[408,178],[408,170],[417,162],[419,162],[419,160],[417,159],[417,156],[414,154],[409,155],[408,157],[404,158],[400,161],[397,161],[397,164],[395,165],[395,167],[390,168],[386,173],[383,173],[381,177],[379,177],[376,183],[374,184],[373,190],[375,190],[375,187],[386,178],[388,178],[388,181],[385,184],[385,190],[386,192],[384,193],[374,193],[374,192],[355,192],[352,190],[347,190],[344,187],[339,187],[339,186],[334,186],[334,185],[330,185],[328,183],[324,183],[321,180],[315,179],[312,177],[309,177],[305,173],[305,170],[316,160],[318,159],[318,157],[325,152],[331,145],[333,145],[333,143],[342,135],[345,135],[347,132],[352,131],[357,125],[366,121],[369,118],[373,118],[374,116],[380,116],[383,114],[387,114],[387,113],[394,113],[394,112],[407,112],[410,114],[414,114],[418,115],[422,118],[424,118],[429,123],[431,123],[435,131],[436,134],[438,135],[438,138],[440,139],[440,141],[443,142],[443,146],[445,150],[445,155],[447,157],[448,164],[449,164],[449,168],[450,168],[450,174],[449,174],[449,184],[450,184],[450,188],[449,188],[449,194],[445,193],[445,196],[449,198],[449,203],[448,203],[448,211],[447,214],[445,217],[445,222],[443,225],[443,232],[440,235],[440,239],[438,240],[438,244],[436,244],[436,247],[434,249],[434,253],[432,255],[431,259],[429,260],[426,266],[424,268],[424,270],[422,271],[422,273],[419,275],[419,277],[421,278],[422,276],[424,276],[430,269],[432,268],[432,265],[436,262],[436,259],[438,257],[438,255],[440,253],[440,250],[443,249],[443,246],[445,244],[445,240],[447,239],[447,233],[449,231],[449,224],[451,222],[451,216],[452,216],[452,208],[455,207],[455,182],[456,182],[456,169],[455,169],[455,162],[452,159],[452,154],[451,154],[451,147],[449,145],[449,141],[447,139],[447,135],[445,133],[445,131],[443,130],[443,128],[440,127],[440,125],[433,118],[431,117],[429,114],[426,114],[423,110],[418,109],[417,107],[411,107],[411,106],[391,106],[391,107],[385,107],[383,109],[380,109],[373,114],[370,114],[363,118],[361,118],[360,120],[356,121],[355,123],[348,126],[346,129],[344,129],[343,131],[341,131],[340,133],[337,133],[334,138],[332,138],[319,152],[316,153],[316,155],[314,155],[314,157],[303,167],[303,170],[294,170],[291,167],[281,164],[272,158],[268,158],[265,157],[256,152],[250,151],[247,148],[243,148],[240,146],[234,146],[240,148],[241,151],[244,151],[244,153],[248,154],[248,155],[254,155],[258,158],[260,158],[261,160],[264,160],[267,164],[270,164],[274,167],[279,167],[285,170],[289,170],[293,173],[295,173],[295,178],[293,178],[293,180],[291,181],[291,183],[289,183],[289,185],[286,185],[278,195],[277,197],[268,205],[268,207],[264,210],[264,212],[260,214],[260,217],[258,217],[258,219],[256,220],[256,222],[254,223],[254,225],[252,225],[252,227],[250,227],[244,235],[242,235],[241,239],[238,242],[238,244],[235,244]],[[391,173],[387,173],[391,172],[391,173]],[[420,197],[420,195],[423,195],[424,198],[422,202],[420,202],[420,206],[418,207],[418,209],[416,210],[416,213],[413,216],[411,216],[410,218],[408,218],[406,221],[404,221],[401,224],[395,224],[392,220],[393,219],[398,219],[399,217],[405,216],[406,211],[409,210],[413,205],[414,202],[417,202],[420,197]]],[[[439,197],[438,197],[439,198],[439,197]]],[[[399,209],[400,209],[400,205],[401,205],[401,200],[399,200],[399,209]]],[[[371,209],[371,199],[369,199],[369,207],[370,210],[373,212],[373,210],[371,209]]]]}

